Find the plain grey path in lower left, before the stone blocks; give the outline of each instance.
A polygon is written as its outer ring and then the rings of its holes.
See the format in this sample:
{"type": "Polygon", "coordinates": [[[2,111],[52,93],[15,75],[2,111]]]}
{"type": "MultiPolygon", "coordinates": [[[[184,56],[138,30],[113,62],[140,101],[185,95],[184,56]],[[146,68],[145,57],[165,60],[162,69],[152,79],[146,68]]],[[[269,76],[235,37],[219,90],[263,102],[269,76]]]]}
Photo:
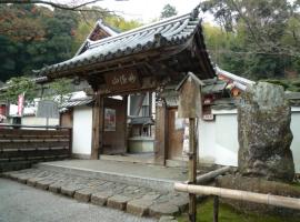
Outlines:
{"type": "Polygon", "coordinates": [[[0,179],[0,222],[154,222],[0,179]]]}

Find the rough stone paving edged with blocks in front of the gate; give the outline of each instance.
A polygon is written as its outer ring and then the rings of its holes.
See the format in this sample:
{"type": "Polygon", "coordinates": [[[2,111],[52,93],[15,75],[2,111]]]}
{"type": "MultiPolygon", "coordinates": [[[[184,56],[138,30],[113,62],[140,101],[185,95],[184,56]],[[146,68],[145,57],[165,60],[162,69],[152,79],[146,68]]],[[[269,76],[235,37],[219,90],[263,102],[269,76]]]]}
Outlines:
{"type": "Polygon", "coordinates": [[[96,178],[71,175],[41,169],[6,172],[2,176],[80,202],[126,211],[139,216],[178,215],[187,210],[188,194],[157,191],[96,178]]]}

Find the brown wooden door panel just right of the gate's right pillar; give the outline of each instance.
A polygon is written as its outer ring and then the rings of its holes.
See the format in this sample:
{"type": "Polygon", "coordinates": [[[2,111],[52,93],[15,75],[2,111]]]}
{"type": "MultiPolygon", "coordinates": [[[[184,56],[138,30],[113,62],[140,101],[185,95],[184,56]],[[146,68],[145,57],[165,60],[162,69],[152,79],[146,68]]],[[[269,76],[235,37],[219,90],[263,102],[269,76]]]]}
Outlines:
{"type": "Polygon", "coordinates": [[[168,159],[181,160],[184,128],[177,119],[177,108],[168,109],[168,159]]]}

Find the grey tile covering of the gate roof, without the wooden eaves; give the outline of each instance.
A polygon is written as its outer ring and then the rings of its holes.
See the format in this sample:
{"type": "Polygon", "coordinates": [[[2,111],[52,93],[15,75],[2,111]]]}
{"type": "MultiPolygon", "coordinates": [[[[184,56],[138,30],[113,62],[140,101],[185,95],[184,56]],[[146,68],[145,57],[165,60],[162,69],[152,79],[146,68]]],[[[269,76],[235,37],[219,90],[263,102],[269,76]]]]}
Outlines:
{"type": "MultiPolygon", "coordinates": [[[[181,46],[187,43],[199,30],[203,40],[201,19],[198,18],[198,13],[194,13],[194,11],[169,18],[99,41],[89,41],[88,49],[83,53],[64,62],[46,67],[41,69],[40,74],[52,77],[58,72],[99,64],[133,53],[146,52],[161,47],[181,46]]],[[[202,44],[204,49],[204,43],[202,44]]],[[[203,53],[209,62],[209,69],[213,70],[207,52],[203,53]]]]}

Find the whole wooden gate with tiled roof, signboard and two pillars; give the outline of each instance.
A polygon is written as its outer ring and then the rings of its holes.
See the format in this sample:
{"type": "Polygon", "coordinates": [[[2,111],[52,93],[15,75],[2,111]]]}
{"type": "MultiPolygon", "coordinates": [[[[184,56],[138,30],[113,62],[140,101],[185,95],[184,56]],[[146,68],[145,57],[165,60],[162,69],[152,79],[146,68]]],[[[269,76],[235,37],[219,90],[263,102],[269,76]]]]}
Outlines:
{"type": "MultiPolygon", "coordinates": [[[[84,79],[94,93],[91,158],[103,150],[103,98],[156,91],[177,85],[188,72],[200,79],[216,77],[208,56],[199,7],[190,13],[147,24],[113,37],[89,41],[79,54],[46,67],[39,74],[49,81],[84,79]]],[[[166,103],[157,103],[156,163],[164,164],[168,121],[166,103]]],[[[126,130],[126,129],[124,129],[126,130]]]]}

